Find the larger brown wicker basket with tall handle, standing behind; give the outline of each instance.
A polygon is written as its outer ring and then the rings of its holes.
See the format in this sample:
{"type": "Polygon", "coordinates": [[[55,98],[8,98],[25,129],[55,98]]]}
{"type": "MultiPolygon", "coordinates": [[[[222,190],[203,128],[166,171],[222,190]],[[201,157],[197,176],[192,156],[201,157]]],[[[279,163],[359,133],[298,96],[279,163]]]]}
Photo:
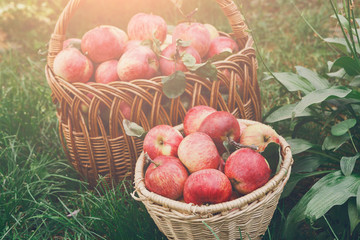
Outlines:
{"type": "Polygon", "coordinates": [[[260,120],[260,92],[253,41],[233,1],[217,0],[217,3],[227,16],[233,29],[231,35],[241,50],[214,63],[219,81],[211,82],[196,74],[185,73],[185,93],[176,99],[168,99],[163,94],[161,76],[150,80],[89,85],[71,84],[54,74],[54,58],[62,50],[66,28],[81,2],[70,0],[60,15],[49,42],[45,73],[57,106],[63,149],[70,163],[91,185],[96,183],[99,175],[112,181],[133,177],[142,140],[123,134],[124,116],[119,110],[121,101],[131,105],[130,121],[145,130],[158,124],[176,126],[183,121],[187,109],[196,105],[208,105],[231,112],[236,117],[260,120]],[[239,82],[242,83],[241,89],[239,82]],[[88,94],[94,97],[90,99],[88,94]],[[187,106],[182,99],[187,99],[187,106]],[[80,111],[83,105],[89,107],[86,116],[80,111]],[[99,109],[107,111],[108,119],[99,116],[99,109]]]}

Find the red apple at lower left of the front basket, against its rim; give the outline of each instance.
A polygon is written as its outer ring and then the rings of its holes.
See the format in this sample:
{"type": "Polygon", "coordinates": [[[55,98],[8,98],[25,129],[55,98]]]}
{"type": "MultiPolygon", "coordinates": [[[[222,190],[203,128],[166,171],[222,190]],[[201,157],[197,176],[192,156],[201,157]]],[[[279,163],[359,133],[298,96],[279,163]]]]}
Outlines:
{"type": "Polygon", "coordinates": [[[188,172],[177,157],[158,156],[145,172],[145,187],[156,194],[177,200],[183,195],[188,172]]]}

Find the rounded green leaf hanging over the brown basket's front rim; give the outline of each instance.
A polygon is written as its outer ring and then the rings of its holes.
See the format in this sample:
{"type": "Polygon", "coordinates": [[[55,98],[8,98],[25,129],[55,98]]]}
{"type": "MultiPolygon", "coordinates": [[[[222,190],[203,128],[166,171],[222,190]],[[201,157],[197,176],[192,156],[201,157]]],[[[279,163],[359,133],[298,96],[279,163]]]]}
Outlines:
{"type": "Polygon", "coordinates": [[[185,92],[186,77],[182,71],[176,71],[173,74],[162,78],[163,92],[168,98],[177,98],[185,92]]]}

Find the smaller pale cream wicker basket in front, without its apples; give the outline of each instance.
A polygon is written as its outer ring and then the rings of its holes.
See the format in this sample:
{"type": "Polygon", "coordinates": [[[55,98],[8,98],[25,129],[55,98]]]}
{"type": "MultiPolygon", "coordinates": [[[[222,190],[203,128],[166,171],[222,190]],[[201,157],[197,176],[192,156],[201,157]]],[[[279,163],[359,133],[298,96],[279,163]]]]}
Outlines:
{"type": "MultiPolygon", "coordinates": [[[[257,123],[239,121],[247,125],[257,123]]],[[[181,131],[183,125],[175,128],[181,131]]],[[[260,239],[270,224],[291,172],[290,146],[282,137],[280,147],[280,169],[264,186],[232,201],[203,206],[171,200],[148,191],[144,182],[147,163],[142,153],[136,163],[135,192],[132,195],[143,202],[168,239],[215,239],[214,233],[219,239],[260,239]]]]}

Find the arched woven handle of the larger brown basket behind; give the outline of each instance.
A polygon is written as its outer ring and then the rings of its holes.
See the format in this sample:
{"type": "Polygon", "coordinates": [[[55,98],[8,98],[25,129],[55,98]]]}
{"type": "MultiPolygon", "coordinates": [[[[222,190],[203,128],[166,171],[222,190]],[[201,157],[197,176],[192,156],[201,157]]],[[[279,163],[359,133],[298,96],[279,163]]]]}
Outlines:
{"type": "MultiPolygon", "coordinates": [[[[69,24],[71,17],[84,0],[70,0],[62,11],[59,19],[55,25],[54,32],[51,34],[48,48],[47,62],[53,68],[53,63],[56,55],[62,50],[62,43],[65,40],[66,28],[69,24]]],[[[244,17],[238,10],[233,0],[216,0],[221,7],[225,16],[233,30],[233,36],[239,44],[240,48],[245,47],[248,39],[247,26],[244,22],[244,17]]]]}

